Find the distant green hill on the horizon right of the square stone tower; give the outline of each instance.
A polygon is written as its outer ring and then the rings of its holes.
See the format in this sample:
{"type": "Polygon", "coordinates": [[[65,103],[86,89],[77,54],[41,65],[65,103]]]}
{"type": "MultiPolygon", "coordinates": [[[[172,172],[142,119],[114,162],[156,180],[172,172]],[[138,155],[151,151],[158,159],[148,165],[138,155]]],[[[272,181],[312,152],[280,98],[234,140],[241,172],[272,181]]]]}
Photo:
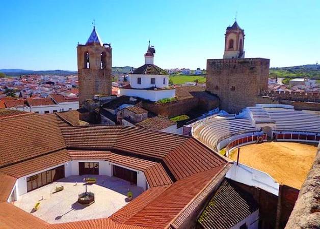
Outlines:
{"type": "Polygon", "coordinates": [[[301,65],[283,68],[270,68],[270,77],[320,79],[320,65],[301,65]]]}

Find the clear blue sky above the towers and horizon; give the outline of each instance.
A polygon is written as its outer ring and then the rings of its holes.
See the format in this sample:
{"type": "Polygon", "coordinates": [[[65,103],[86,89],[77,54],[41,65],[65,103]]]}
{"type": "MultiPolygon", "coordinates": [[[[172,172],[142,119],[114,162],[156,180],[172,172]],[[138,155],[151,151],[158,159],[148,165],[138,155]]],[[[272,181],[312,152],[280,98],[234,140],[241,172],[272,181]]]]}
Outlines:
{"type": "Polygon", "coordinates": [[[76,70],[77,42],[96,29],[113,47],[113,66],[144,64],[148,40],[162,68],[206,68],[222,58],[224,33],[244,28],[247,58],[272,67],[320,62],[320,1],[5,1],[0,8],[0,69],[76,70]]]}

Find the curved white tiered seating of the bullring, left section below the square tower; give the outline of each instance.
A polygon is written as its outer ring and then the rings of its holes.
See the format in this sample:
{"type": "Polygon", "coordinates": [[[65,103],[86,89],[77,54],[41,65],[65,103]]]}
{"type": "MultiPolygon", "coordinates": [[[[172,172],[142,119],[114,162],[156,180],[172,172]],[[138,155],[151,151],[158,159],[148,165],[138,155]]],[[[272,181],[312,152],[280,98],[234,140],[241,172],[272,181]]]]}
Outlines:
{"type": "Polygon", "coordinates": [[[229,136],[256,131],[248,118],[226,119],[215,117],[195,124],[193,127],[194,136],[213,149],[216,149],[218,142],[229,136]]]}

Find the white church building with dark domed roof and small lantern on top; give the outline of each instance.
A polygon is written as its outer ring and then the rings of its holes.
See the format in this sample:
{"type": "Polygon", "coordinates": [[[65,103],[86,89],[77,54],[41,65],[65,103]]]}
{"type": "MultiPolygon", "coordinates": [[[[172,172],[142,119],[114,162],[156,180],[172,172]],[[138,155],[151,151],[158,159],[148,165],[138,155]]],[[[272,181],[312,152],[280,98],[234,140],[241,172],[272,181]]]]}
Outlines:
{"type": "Polygon", "coordinates": [[[120,96],[139,97],[150,101],[174,98],[176,90],[169,86],[169,74],[153,64],[155,49],[149,47],[145,56],[145,64],[130,75],[130,84],[119,89],[120,96]]]}

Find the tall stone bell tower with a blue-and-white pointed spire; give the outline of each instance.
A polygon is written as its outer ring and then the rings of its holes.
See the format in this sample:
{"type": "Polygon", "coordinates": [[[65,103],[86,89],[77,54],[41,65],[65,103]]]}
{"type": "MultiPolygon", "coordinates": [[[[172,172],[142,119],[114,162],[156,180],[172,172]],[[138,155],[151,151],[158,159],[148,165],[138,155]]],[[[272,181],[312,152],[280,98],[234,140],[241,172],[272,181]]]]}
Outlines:
{"type": "Polygon", "coordinates": [[[77,46],[79,105],[95,95],[110,95],[112,88],[112,48],[103,44],[95,26],[85,45],[77,46]]]}

